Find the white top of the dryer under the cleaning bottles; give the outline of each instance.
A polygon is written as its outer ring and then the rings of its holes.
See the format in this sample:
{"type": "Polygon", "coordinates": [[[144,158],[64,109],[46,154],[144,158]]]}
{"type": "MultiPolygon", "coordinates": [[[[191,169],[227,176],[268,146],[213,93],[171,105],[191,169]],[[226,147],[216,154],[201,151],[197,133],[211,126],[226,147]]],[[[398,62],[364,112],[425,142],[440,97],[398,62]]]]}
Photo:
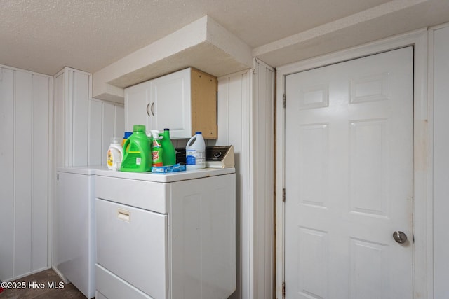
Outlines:
{"type": "Polygon", "coordinates": [[[200,179],[208,176],[220,176],[223,174],[233,174],[234,168],[203,168],[192,169],[186,172],[170,172],[166,174],[156,174],[152,172],[114,172],[109,169],[98,169],[97,176],[109,176],[121,179],[135,179],[139,181],[155,181],[160,183],[170,183],[172,181],[184,181],[188,179],[200,179]]]}

